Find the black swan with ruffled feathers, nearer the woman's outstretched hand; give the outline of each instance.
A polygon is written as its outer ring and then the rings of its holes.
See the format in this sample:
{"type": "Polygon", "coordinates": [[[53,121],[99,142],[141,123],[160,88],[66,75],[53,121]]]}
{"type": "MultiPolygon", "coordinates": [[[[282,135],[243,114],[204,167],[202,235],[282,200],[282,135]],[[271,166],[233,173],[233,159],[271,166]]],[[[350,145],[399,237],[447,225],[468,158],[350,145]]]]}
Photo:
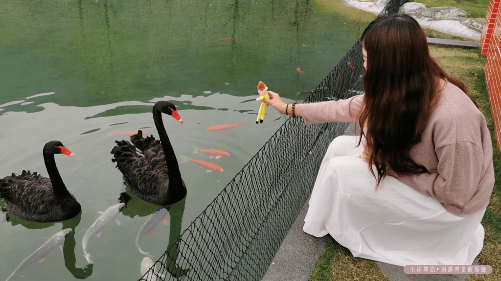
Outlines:
{"type": "Polygon", "coordinates": [[[186,196],[186,186],[181,178],[179,165],[163,125],[162,113],[183,122],[176,107],[169,101],[153,105],[153,121],[160,141],[153,135],[143,138],[141,130],[127,140],[115,140],[111,153],[122,172],[125,183],[137,197],[157,205],[170,205],[186,196]],[[142,152],[139,154],[136,149],[142,152]]]}

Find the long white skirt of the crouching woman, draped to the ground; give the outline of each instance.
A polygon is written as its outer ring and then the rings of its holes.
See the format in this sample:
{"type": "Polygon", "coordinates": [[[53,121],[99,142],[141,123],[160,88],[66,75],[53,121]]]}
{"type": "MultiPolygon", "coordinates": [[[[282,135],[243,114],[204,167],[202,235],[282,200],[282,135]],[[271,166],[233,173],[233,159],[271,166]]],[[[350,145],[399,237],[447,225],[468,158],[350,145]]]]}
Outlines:
{"type": "MultiPolygon", "coordinates": [[[[461,217],[392,176],[378,191],[358,138],[336,137],[315,181],[303,230],[331,236],[355,257],[405,265],[472,264],[483,246],[485,209],[461,217]]],[[[375,170],[375,168],[374,168],[375,170]]],[[[376,173],[377,174],[377,173],[376,173]]]]}

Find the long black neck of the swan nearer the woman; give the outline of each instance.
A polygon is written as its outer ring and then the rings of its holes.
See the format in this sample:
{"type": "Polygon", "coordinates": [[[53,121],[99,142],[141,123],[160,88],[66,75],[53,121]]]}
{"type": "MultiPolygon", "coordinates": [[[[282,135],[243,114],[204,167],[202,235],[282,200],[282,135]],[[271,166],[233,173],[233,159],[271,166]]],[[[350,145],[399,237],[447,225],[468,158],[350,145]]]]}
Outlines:
{"type": "Polygon", "coordinates": [[[160,136],[160,143],[163,148],[163,153],[165,155],[165,162],[167,162],[167,170],[169,172],[169,185],[175,183],[180,184],[181,172],[179,171],[179,164],[177,163],[176,155],[174,154],[174,149],[170,144],[169,136],[163,125],[162,113],[160,111],[153,112],[153,121],[160,136]]]}

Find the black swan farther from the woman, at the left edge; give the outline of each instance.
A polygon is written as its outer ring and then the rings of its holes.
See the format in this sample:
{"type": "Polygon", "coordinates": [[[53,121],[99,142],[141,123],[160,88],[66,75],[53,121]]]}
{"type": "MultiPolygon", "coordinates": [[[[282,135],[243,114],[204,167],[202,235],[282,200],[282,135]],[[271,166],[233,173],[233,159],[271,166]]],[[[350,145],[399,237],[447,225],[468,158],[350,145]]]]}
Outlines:
{"type": "Polygon", "coordinates": [[[66,189],[54,160],[54,154],[75,156],[61,141],[49,141],[44,146],[44,161],[49,178],[28,170],[21,175],[12,173],[0,180],[0,197],[4,211],[37,222],[62,221],[75,217],[82,207],[66,189]]]}

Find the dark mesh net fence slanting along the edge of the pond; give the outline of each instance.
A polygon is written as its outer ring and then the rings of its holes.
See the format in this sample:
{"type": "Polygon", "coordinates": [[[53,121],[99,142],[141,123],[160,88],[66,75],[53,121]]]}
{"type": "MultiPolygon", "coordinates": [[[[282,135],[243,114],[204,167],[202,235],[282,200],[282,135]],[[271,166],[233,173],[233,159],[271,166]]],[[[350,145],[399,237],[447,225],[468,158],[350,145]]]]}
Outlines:
{"type": "MultiPolygon", "coordinates": [[[[405,2],[390,0],[380,15],[405,2]]],[[[305,102],[360,94],[363,75],[357,41],[305,102]]],[[[305,126],[289,117],[140,280],[260,280],[310,195],[329,143],[347,126],[305,126]]]]}

